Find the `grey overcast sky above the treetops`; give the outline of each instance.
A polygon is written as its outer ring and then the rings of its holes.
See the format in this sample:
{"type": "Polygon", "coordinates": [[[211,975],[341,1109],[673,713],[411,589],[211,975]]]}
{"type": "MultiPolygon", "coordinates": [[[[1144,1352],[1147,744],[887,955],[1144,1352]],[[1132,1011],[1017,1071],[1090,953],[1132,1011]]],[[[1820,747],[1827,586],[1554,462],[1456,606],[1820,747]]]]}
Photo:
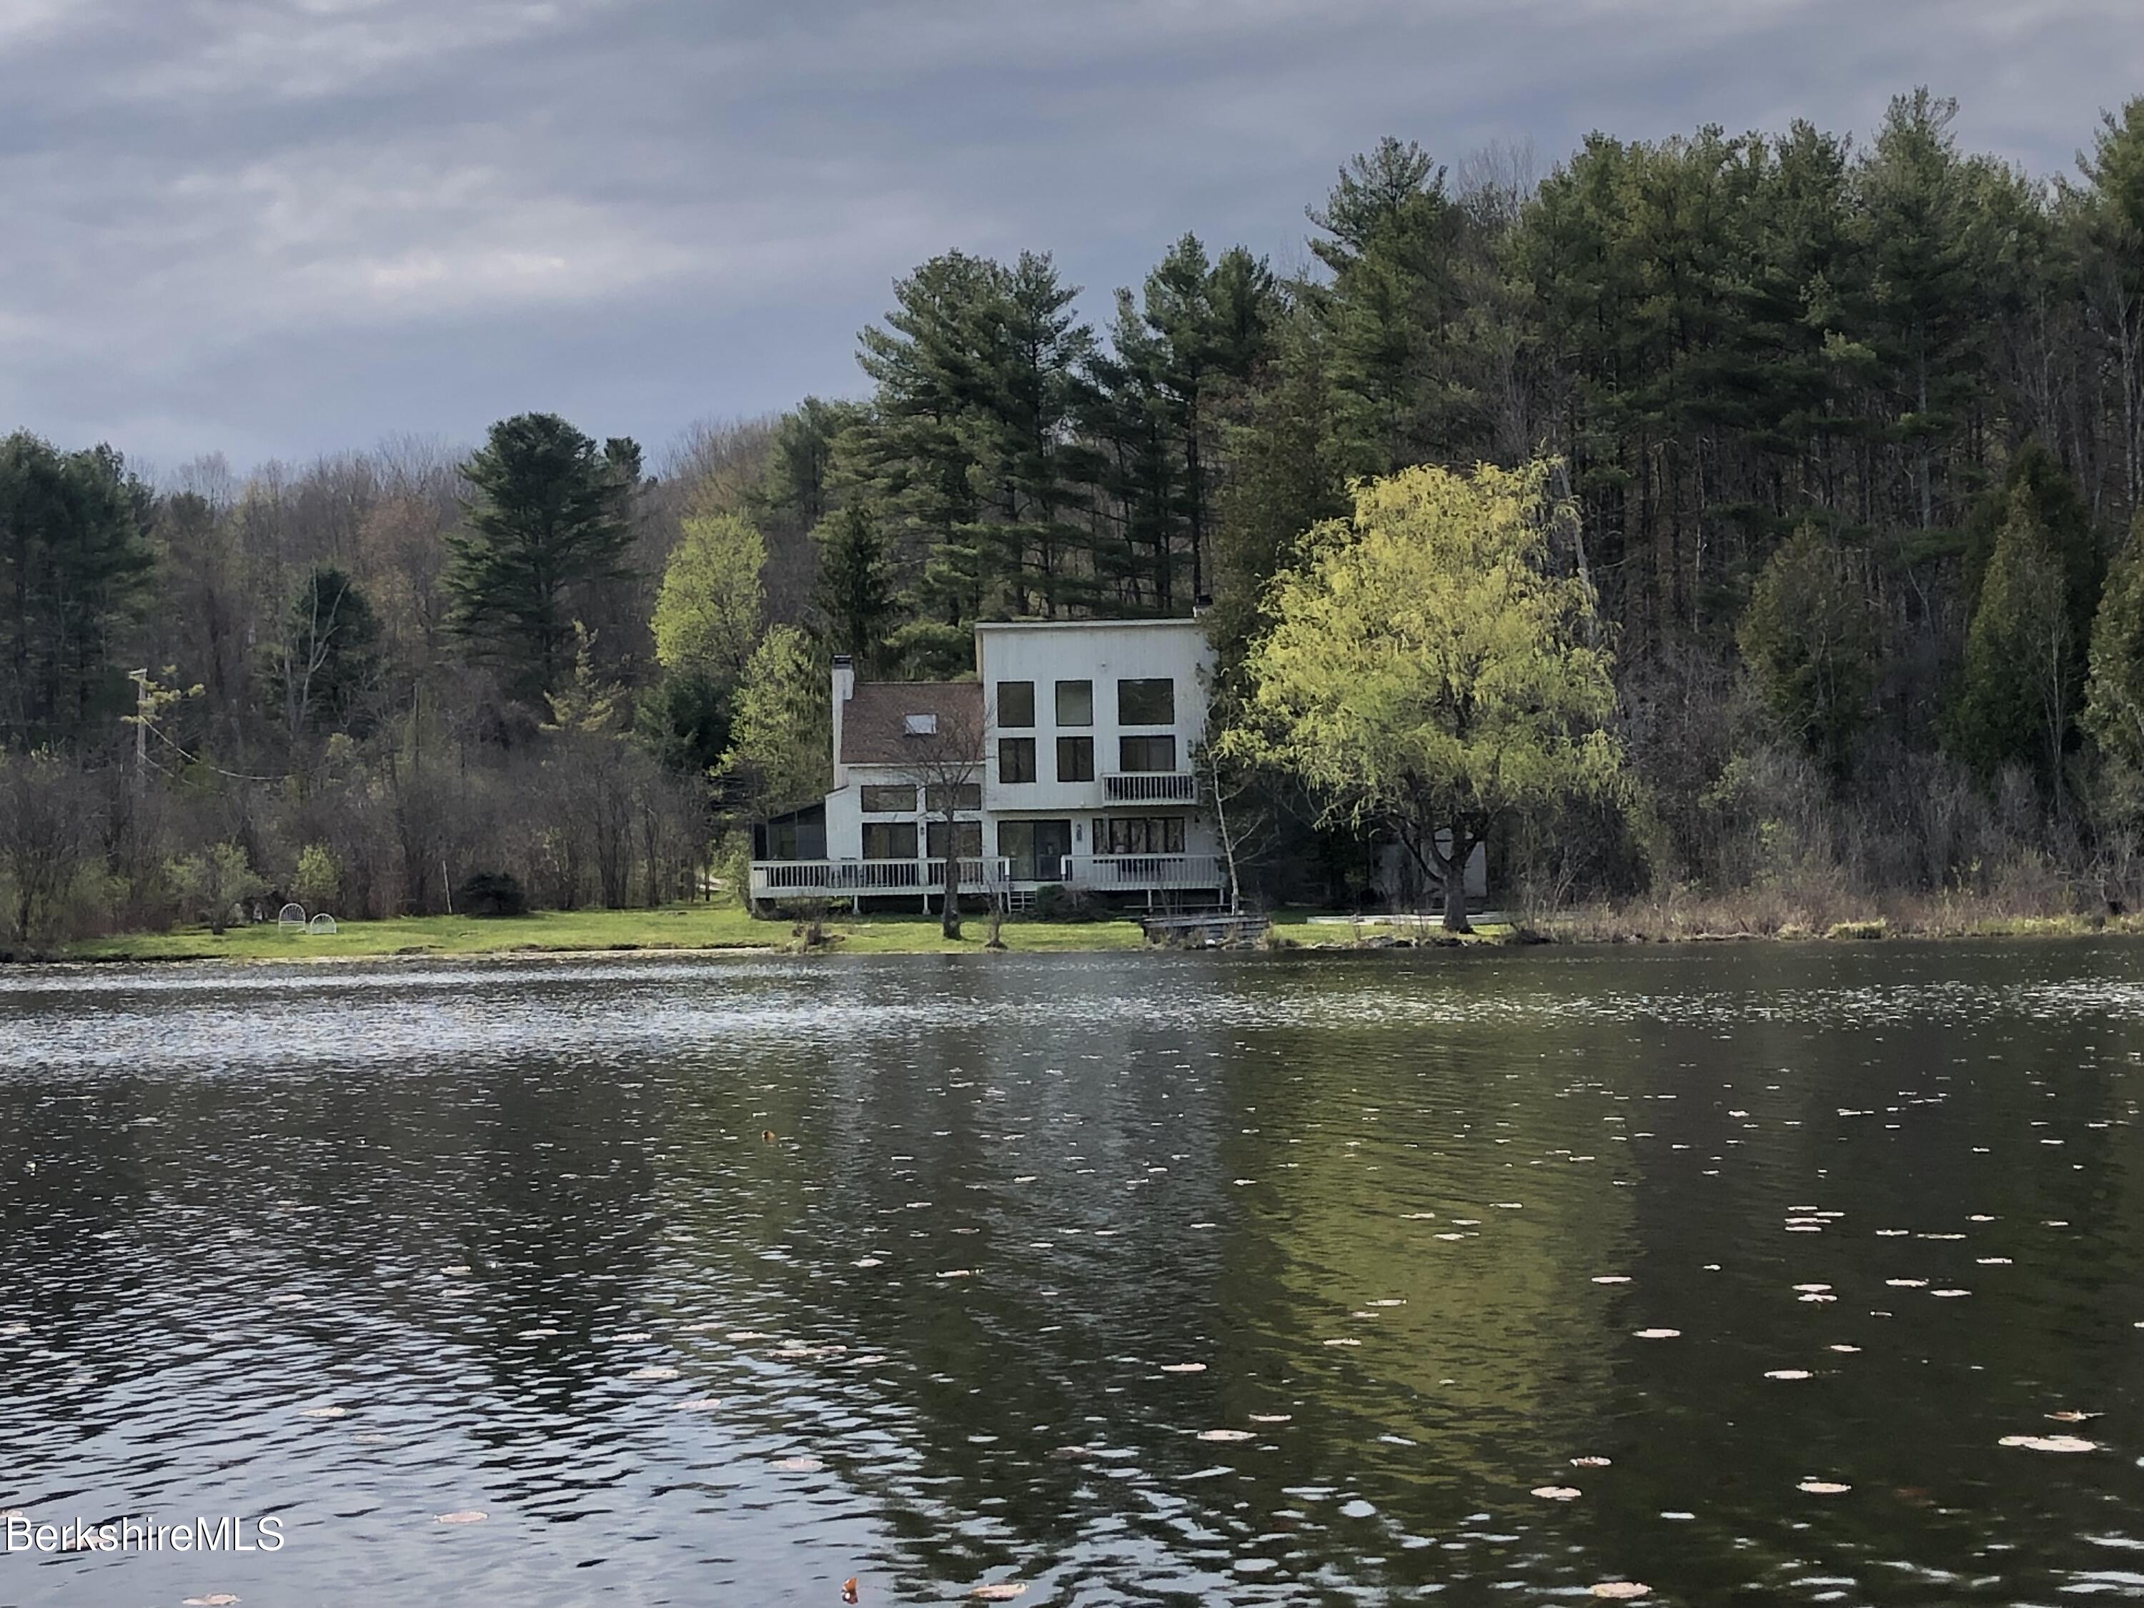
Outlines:
{"type": "Polygon", "coordinates": [[[915,262],[1304,257],[1383,133],[1458,163],[1930,84],[2067,169],[2144,0],[0,0],[0,429],[174,470],[523,410],[654,452],[858,394],[915,262]]]}

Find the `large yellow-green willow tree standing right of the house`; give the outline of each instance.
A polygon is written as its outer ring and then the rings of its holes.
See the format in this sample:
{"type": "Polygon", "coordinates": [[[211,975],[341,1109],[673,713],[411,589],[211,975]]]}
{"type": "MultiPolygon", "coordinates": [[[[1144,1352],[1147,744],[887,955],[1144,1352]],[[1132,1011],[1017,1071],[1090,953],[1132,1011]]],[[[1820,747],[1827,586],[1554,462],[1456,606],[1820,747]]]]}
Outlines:
{"type": "Polygon", "coordinates": [[[1593,592],[1550,568],[1554,465],[1417,467],[1355,487],[1265,598],[1224,746],[1299,776],[1323,819],[1389,832],[1466,933],[1466,862],[1497,817],[1604,793],[1621,750],[1593,592]]]}

